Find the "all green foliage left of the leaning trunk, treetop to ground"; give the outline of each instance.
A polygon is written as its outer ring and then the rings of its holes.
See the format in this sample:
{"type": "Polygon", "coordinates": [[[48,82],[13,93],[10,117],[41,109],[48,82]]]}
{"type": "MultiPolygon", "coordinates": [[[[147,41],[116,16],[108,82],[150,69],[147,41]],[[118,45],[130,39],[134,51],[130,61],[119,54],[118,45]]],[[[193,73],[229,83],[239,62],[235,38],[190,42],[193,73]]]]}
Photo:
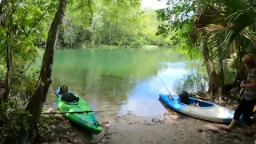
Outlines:
{"type": "MultiPolygon", "coordinates": [[[[50,15],[56,10],[57,4],[57,1],[15,0],[8,1],[4,6],[5,26],[0,26],[0,78],[4,78],[6,74],[8,47],[10,96],[8,101],[0,102],[1,135],[16,137],[20,130],[29,127],[26,119],[31,115],[24,110],[24,106],[37,81],[35,74],[25,74],[27,64],[33,62],[38,52],[38,43],[46,39],[50,15]],[[6,45],[7,40],[10,46],[6,45]]],[[[0,90],[2,93],[2,87],[0,90]]]]}

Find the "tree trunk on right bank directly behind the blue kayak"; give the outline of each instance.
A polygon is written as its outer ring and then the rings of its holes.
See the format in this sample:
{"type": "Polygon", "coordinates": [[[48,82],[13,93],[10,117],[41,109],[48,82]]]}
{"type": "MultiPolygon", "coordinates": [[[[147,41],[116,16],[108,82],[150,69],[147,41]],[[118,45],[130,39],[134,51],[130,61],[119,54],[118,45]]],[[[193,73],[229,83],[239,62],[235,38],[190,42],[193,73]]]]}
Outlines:
{"type": "Polygon", "coordinates": [[[214,69],[214,63],[212,62],[209,54],[209,49],[207,47],[207,38],[202,38],[202,53],[206,63],[206,70],[209,77],[209,89],[208,95],[209,98],[218,98],[221,94],[222,82],[218,78],[218,74],[214,69]]]}

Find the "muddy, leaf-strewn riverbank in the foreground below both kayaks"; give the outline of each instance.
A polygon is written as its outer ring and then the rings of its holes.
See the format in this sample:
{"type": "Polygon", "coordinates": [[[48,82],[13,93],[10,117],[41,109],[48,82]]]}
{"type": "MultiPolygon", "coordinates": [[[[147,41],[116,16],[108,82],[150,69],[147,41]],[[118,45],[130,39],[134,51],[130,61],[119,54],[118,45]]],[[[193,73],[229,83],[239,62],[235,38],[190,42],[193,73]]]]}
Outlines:
{"type": "Polygon", "coordinates": [[[163,144],[163,143],[248,143],[254,138],[243,135],[244,126],[233,132],[219,130],[217,123],[205,122],[174,112],[160,117],[138,117],[115,114],[98,118],[103,130],[101,134],[89,134],[70,124],[61,114],[42,115],[39,124],[41,138],[35,143],[91,143],[91,144],[163,144]]]}

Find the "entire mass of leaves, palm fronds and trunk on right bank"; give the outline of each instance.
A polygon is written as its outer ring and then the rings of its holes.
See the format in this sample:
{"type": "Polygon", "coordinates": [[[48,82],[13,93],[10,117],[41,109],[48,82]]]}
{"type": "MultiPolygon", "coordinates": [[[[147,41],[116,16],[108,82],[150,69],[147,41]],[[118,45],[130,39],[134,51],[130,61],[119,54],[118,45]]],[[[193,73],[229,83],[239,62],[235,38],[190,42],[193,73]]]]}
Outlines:
{"type": "Polygon", "coordinates": [[[254,5],[254,0],[178,0],[158,10],[158,19],[164,23],[157,34],[167,36],[176,31],[172,41],[181,45],[182,54],[204,58],[210,97],[219,98],[228,71],[235,74],[234,84],[245,78],[242,56],[255,54],[254,5]]]}

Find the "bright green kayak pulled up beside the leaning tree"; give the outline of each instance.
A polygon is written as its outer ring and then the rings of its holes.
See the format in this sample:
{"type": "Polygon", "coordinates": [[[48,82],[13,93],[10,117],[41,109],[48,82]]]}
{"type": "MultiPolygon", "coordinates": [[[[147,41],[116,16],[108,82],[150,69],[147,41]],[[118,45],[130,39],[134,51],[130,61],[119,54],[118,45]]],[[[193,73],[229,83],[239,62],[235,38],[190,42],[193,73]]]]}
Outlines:
{"type": "MultiPolygon", "coordinates": [[[[59,94],[60,87],[56,90],[56,97],[58,103],[58,109],[61,112],[75,112],[75,111],[90,111],[90,106],[83,100],[82,97],[74,94],[77,98],[74,102],[63,102],[62,101],[62,94],[59,94]]],[[[70,91],[68,92],[70,93],[70,91]]],[[[82,126],[86,130],[89,130],[93,134],[100,134],[102,131],[102,126],[96,120],[94,113],[68,113],[63,114],[65,118],[82,126]]]]}

